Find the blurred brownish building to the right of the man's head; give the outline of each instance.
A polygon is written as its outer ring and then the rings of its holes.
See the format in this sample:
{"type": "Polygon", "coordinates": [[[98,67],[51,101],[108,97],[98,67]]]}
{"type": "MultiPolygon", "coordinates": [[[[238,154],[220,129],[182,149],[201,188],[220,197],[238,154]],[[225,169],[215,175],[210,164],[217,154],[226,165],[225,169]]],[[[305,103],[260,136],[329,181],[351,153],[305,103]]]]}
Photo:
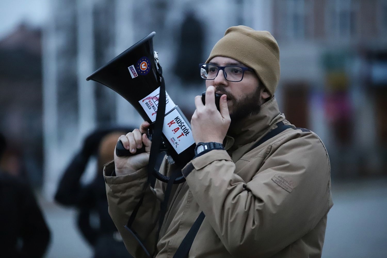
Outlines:
{"type": "Polygon", "coordinates": [[[274,0],[272,13],[289,121],[322,137],[332,176],[385,173],[387,1],[274,0]]]}

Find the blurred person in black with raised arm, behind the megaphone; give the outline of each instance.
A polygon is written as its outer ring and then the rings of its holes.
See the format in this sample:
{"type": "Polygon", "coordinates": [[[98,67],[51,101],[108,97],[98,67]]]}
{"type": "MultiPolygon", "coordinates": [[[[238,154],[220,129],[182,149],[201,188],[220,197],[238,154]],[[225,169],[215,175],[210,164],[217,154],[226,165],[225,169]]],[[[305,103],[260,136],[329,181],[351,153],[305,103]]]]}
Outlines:
{"type": "Polygon", "coordinates": [[[118,137],[127,132],[122,128],[96,130],[86,137],[82,149],[75,154],[60,180],[55,200],[78,210],[77,226],[94,250],[94,258],[128,257],[113,221],[108,214],[103,166],[113,160],[118,137]],[[91,183],[82,185],[82,174],[92,156],[97,157],[97,169],[91,183]]]}

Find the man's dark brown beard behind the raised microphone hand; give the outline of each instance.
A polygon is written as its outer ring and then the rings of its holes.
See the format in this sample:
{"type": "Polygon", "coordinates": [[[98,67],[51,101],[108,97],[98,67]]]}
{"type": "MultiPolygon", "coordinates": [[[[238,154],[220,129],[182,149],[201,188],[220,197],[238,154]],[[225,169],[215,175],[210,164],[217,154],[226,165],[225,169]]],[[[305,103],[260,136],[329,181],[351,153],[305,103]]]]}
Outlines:
{"type": "Polygon", "coordinates": [[[233,111],[230,113],[231,125],[246,118],[247,116],[259,113],[261,110],[260,89],[261,86],[259,85],[254,92],[248,94],[242,99],[236,99],[235,96],[227,92],[223,87],[217,87],[217,93],[226,94],[233,102],[233,111]]]}

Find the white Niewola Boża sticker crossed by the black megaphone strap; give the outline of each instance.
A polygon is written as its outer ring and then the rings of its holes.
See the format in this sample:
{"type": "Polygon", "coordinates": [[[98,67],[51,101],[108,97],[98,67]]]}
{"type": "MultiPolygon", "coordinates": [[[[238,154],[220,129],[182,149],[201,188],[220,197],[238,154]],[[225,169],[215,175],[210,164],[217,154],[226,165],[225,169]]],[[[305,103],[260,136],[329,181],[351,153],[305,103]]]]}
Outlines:
{"type": "MultiPolygon", "coordinates": [[[[166,94],[166,104],[165,104],[165,113],[168,113],[173,108],[175,108],[175,103],[170,99],[168,93],[166,94]]],[[[151,94],[146,96],[144,99],[139,101],[142,108],[145,110],[148,117],[152,122],[156,121],[157,108],[159,105],[159,95],[160,95],[160,87],[154,90],[151,94]]]]}

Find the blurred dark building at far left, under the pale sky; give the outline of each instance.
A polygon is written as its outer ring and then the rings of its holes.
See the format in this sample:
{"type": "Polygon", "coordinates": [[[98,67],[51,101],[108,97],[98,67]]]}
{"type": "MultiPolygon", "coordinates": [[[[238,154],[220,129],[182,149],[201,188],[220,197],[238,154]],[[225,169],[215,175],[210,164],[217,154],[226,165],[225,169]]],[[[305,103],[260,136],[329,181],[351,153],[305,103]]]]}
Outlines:
{"type": "Polygon", "coordinates": [[[21,23],[0,40],[0,166],[40,185],[43,174],[41,31],[21,23]]]}

